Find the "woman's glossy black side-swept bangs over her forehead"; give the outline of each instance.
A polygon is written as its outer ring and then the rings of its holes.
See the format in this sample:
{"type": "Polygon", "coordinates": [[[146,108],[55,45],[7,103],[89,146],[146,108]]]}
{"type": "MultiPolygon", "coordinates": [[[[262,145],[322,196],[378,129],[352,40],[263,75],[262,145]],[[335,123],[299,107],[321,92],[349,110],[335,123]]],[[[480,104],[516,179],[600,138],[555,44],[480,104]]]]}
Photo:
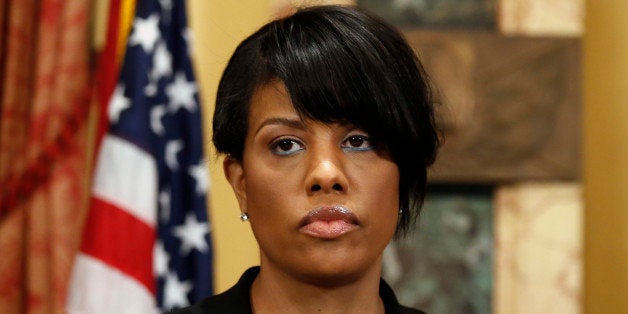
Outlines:
{"type": "Polygon", "coordinates": [[[391,115],[399,108],[394,95],[400,93],[386,84],[396,81],[382,59],[388,52],[370,33],[356,35],[356,27],[350,20],[308,19],[307,14],[296,25],[281,21],[261,44],[262,77],[264,83],[285,84],[301,118],[351,123],[380,141],[396,120],[391,115]]]}

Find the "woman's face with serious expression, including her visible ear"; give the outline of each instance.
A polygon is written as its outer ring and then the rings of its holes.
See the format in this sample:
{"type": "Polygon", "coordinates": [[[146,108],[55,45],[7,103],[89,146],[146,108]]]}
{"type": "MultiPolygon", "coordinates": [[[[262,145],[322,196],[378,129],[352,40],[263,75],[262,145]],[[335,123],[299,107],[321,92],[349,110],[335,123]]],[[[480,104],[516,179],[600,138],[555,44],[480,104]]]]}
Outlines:
{"type": "Polygon", "coordinates": [[[379,272],[397,226],[399,171],[352,125],[302,121],[281,82],[253,95],[242,162],[225,172],[262,267],[315,284],[379,272]]]}

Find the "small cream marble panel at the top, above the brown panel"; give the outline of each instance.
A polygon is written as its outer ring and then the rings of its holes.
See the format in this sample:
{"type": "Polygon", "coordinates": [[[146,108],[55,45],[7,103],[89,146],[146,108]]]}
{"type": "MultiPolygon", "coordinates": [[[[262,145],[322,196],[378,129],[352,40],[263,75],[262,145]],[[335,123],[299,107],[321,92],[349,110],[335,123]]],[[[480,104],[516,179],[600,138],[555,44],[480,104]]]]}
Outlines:
{"type": "Polygon", "coordinates": [[[499,0],[499,31],[523,36],[580,36],[584,0],[499,0]]]}

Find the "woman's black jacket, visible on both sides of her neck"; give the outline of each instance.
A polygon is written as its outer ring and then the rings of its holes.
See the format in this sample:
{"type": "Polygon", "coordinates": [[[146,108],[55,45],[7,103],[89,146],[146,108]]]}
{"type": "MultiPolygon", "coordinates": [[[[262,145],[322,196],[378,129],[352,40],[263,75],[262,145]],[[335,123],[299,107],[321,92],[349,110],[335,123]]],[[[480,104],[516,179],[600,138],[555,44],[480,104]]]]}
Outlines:
{"type": "MultiPolygon", "coordinates": [[[[170,313],[177,314],[207,314],[207,313],[229,313],[229,314],[249,314],[253,313],[251,309],[250,291],[253,281],[259,274],[259,267],[249,268],[238,283],[229,290],[215,296],[203,299],[201,302],[186,307],[184,309],[174,310],[170,313]]],[[[387,314],[425,314],[419,310],[402,306],[397,301],[395,293],[390,286],[381,280],[379,283],[379,296],[384,301],[384,308],[387,314]]]]}

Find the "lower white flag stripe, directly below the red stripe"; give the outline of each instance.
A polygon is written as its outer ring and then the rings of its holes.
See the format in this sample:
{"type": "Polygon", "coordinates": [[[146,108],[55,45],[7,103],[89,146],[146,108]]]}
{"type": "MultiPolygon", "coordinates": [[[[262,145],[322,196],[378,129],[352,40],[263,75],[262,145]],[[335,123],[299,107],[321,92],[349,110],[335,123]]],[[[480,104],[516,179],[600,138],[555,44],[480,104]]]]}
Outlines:
{"type": "Polygon", "coordinates": [[[72,271],[68,313],[157,313],[150,291],[97,259],[78,254],[72,271]]]}

